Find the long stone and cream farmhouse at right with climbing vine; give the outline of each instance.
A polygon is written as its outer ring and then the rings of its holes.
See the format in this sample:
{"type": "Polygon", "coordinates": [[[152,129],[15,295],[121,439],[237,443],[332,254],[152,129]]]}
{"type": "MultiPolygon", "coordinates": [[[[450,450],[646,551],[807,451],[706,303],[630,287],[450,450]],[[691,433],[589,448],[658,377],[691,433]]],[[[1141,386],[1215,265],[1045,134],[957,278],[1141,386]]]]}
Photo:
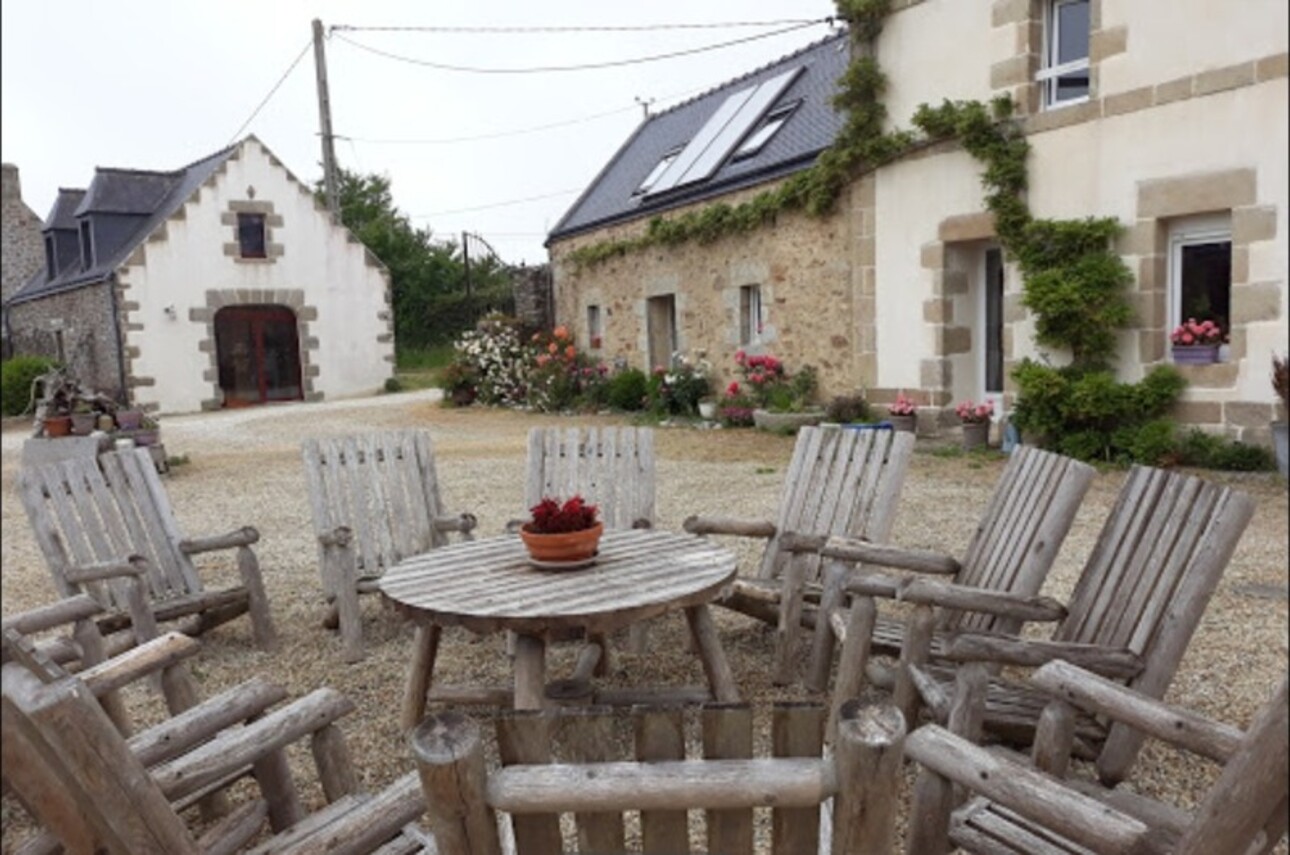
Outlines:
{"type": "MultiPolygon", "coordinates": [[[[1135,325],[1120,375],[1171,360],[1180,320],[1215,317],[1229,343],[1215,364],[1179,366],[1175,415],[1269,442],[1269,361],[1287,348],[1285,3],[1180,0],[1162,14],[1133,0],[894,0],[873,50],[889,129],[912,128],[924,103],[1010,95],[1032,213],[1124,227],[1135,325]]],[[[722,380],[738,348],[773,352],[789,370],[814,365],[826,396],[903,389],[942,423],[964,398],[1010,404],[1013,365],[1045,353],[982,164],[957,142],[859,175],[827,217],[780,211],[578,262],[810,168],[841,128],[829,102],[848,62],[849,36],[835,35],[636,129],[548,236],[557,316],[583,346],[645,369],[702,355],[722,380]]]]}

